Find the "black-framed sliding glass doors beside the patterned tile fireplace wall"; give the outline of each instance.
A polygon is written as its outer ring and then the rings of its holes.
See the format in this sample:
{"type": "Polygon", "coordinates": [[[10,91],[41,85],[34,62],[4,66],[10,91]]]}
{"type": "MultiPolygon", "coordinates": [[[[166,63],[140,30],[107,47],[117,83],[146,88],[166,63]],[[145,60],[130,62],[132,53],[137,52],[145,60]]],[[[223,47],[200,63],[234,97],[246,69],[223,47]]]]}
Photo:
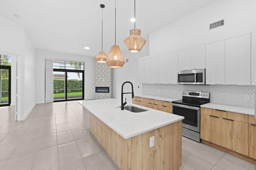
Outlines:
{"type": "Polygon", "coordinates": [[[53,69],[53,101],[84,100],[84,70],[53,69]]]}

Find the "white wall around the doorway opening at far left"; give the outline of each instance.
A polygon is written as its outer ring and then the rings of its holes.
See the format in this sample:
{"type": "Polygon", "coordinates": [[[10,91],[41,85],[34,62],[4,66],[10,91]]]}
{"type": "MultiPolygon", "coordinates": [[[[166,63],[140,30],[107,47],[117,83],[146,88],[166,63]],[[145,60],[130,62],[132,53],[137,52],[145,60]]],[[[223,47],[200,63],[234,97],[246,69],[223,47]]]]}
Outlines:
{"type": "MultiPolygon", "coordinates": [[[[13,56],[17,55],[20,61],[18,70],[20,75],[20,83],[18,84],[20,89],[18,120],[23,120],[26,119],[35,106],[35,49],[22,25],[1,16],[0,25],[0,52],[13,56]]],[[[12,66],[12,73],[15,69],[15,66],[12,66]]],[[[15,81],[11,82],[11,89],[15,84],[15,81]]],[[[14,95],[12,94],[13,97],[14,95]]]]}

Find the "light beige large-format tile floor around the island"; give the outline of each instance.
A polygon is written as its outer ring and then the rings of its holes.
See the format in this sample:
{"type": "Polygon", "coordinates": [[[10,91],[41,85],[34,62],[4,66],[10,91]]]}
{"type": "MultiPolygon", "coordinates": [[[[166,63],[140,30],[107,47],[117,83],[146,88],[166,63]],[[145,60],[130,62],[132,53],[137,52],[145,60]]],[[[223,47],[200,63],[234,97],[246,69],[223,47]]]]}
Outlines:
{"type": "MultiPolygon", "coordinates": [[[[77,101],[37,104],[24,121],[0,107],[0,170],[119,170],[77,101]]],[[[254,170],[254,164],[182,137],[180,170],[254,170]]]]}

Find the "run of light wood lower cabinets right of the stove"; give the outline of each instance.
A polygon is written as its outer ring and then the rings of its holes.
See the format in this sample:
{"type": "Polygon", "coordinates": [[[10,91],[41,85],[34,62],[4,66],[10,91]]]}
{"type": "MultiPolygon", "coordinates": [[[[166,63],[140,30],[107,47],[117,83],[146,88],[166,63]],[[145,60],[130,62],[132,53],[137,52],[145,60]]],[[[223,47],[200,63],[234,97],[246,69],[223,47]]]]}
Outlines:
{"type": "Polygon", "coordinates": [[[256,127],[250,124],[252,120],[250,115],[201,107],[200,137],[255,159],[256,127]]]}

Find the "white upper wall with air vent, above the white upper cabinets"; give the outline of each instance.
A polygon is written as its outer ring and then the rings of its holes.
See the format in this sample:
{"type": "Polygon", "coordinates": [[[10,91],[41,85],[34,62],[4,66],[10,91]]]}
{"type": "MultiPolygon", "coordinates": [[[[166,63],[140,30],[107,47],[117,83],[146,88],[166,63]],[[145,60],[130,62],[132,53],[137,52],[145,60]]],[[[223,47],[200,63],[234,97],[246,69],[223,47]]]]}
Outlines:
{"type": "Polygon", "coordinates": [[[218,0],[150,33],[150,55],[219,41],[256,31],[256,0],[218,0]],[[226,18],[226,25],[208,31],[208,24],[226,18]]]}

